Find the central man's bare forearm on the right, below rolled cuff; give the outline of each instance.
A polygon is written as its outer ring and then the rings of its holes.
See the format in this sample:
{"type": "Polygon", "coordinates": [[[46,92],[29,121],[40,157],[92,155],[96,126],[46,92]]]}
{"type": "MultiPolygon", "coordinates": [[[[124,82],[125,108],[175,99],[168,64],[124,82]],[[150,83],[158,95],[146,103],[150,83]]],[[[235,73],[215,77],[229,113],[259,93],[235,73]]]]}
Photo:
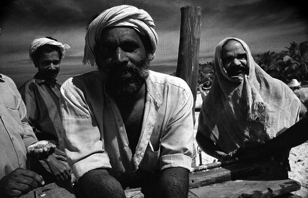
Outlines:
{"type": "Polygon", "coordinates": [[[187,197],[188,172],[182,167],[163,170],[159,183],[159,197],[187,197]]]}

